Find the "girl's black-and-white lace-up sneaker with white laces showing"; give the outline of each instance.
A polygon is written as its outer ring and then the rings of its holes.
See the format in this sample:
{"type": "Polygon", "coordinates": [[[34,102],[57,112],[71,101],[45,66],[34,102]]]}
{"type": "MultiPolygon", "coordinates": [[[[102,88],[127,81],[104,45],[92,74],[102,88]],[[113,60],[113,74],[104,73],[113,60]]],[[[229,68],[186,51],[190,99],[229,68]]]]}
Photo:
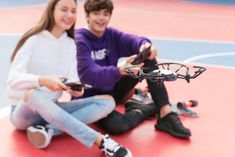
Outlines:
{"type": "Polygon", "coordinates": [[[100,145],[101,151],[106,157],[132,157],[131,152],[112,140],[109,135],[105,135],[100,145]]]}

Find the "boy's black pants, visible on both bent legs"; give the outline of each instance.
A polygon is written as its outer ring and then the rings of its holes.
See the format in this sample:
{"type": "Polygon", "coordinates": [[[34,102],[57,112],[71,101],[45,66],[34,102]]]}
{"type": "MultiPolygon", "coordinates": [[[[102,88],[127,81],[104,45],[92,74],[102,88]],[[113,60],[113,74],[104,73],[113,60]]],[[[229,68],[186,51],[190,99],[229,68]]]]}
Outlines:
{"type": "MultiPolygon", "coordinates": [[[[153,67],[156,63],[156,60],[146,61],[144,66],[153,67]]],[[[119,104],[137,83],[138,80],[130,76],[126,76],[121,79],[116,84],[114,90],[108,94],[111,94],[114,97],[116,104],[119,104]]],[[[169,104],[165,85],[157,85],[157,83],[151,82],[149,80],[147,80],[147,84],[149,92],[151,93],[152,99],[156,104],[159,112],[163,105],[169,104]]],[[[121,134],[134,128],[144,121],[144,119],[144,115],[140,112],[129,111],[125,114],[122,114],[114,110],[106,118],[99,120],[96,124],[108,133],[121,134]]]]}

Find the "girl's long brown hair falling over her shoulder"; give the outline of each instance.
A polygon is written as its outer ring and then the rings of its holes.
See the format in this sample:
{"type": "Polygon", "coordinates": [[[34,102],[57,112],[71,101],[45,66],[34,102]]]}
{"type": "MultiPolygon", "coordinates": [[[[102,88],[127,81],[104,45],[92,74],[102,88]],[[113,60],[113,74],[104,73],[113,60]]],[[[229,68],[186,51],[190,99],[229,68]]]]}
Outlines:
{"type": "MultiPolygon", "coordinates": [[[[18,41],[12,55],[11,55],[11,61],[14,60],[16,53],[18,52],[18,50],[24,45],[25,41],[31,37],[32,35],[35,35],[43,30],[48,30],[51,31],[55,25],[55,19],[54,19],[54,10],[55,10],[55,6],[56,4],[59,2],[60,0],[49,0],[48,5],[40,19],[40,21],[38,22],[38,24],[34,27],[32,27],[31,29],[29,29],[26,33],[23,34],[23,36],[21,37],[21,39],[18,41]]],[[[74,0],[76,3],[77,1],[74,0]]],[[[74,27],[75,27],[75,23],[72,25],[72,27],[68,30],[66,30],[67,34],[69,37],[74,39],[74,27]]]]}

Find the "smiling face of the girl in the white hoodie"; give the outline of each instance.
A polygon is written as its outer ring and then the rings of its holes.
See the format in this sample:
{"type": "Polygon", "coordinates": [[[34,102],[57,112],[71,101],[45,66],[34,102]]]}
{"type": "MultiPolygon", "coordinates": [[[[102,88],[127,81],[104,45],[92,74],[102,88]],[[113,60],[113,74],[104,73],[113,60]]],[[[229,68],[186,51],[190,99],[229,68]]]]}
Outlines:
{"type": "Polygon", "coordinates": [[[71,28],[77,18],[77,4],[74,0],[60,0],[54,10],[55,26],[57,31],[71,28]]]}

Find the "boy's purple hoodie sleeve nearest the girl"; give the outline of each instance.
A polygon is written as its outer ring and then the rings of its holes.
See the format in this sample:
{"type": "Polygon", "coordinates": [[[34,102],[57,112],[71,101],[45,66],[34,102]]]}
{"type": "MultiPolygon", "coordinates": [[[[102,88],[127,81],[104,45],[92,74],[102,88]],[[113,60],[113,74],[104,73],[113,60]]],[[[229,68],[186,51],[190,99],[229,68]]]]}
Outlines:
{"type": "Polygon", "coordinates": [[[101,66],[91,58],[89,48],[82,42],[77,42],[77,69],[82,83],[90,84],[93,88],[109,90],[121,75],[113,65],[101,66]]]}

